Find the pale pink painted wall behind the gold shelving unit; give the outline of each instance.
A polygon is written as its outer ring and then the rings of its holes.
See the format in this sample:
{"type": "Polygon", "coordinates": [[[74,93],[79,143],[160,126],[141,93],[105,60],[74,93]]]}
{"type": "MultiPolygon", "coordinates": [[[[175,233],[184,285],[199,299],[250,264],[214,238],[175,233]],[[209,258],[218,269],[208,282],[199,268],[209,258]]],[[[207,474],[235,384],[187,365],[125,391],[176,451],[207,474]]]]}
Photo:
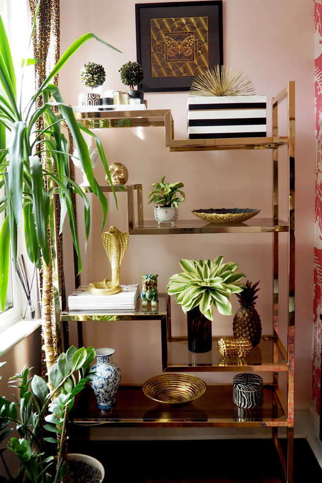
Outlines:
{"type": "MultiPolygon", "coordinates": [[[[79,71],[88,61],[100,62],[107,72],[102,88],[123,90],[118,69],[136,60],[135,0],[61,0],[61,52],[81,34],[95,32],[124,54],[108,50],[95,41],[84,45],[59,75],[59,87],[67,104],[76,105],[77,95],[85,92],[79,71]]],[[[270,99],[288,80],[296,83],[296,403],[311,401],[312,379],[312,303],[314,254],[314,5],[313,0],[224,0],[224,62],[241,68],[253,80],[257,94],[270,99]]],[[[124,89],[125,90],[125,89],[124,89]]],[[[186,138],[187,93],[147,93],[150,109],[171,108],[176,139],[186,138]]],[[[271,113],[268,108],[268,126],[271,113]]],[[[268,135],[271,129],[268,127],[268,135]]],[[[98,131],[109,162],[121,161],[129,170],[129,183],[143,184],[146,200],[152,183],[181,180],[186,201],[180,217],[190,218],[191,210],[202,207],[254,207],[261,215],[271,215],[271,153],[268,151],[222,151],[169,153],[164,146],[162,128],[98,131]]],[[[280,134],[285,133],[281,131],[280,134]]],[[[281,150],[281,185],[285,183],[286,149],[281,150]]],[[[102,167],[96,176],[104,184],[102,167]]],[[[106,230],[116,225],[126,230],[124,195],[119,194],[119,210],[109,199],[106,230]]],[[[281,217],[285,218],[287,196],[281,197],[281,217]]],[[[81,213],[81,210],[80,210],[81,213]]],[[[151,205],[144,203],[145,218],[153,217],[151,205]]],[[[103,280],[109,263],[101,242],[101,210],[93,200],[93,226],[84,256],[82,283],[103,280]]],[[[84,233],[81,232],[84,239],[84,233]]],[[[283,240],[283,237],[281,237],[283,240]]],[[[67,238],[66,238],[67,240],[67,238]]],[[[84,246],[84,244],[83,244],[84,246]]],[[[285,239],[284,239],[285,248],[285,239]]],[[[271,333],[271,234],[229,234],[176,236],[132,236],[121,266],[121,282],[135,283],[142,273],[159,273],[159,290],[178,272],[180,258],[212,258],[224,255],[234,261],[253,281],[261,280],[257,308],[264,333],[271,333]],[[268,295],[269,294],[269,295],[268,295]]],[[[65,249],[65,260],[71,260],[65,249]]],[[[67,268],[67,263],[66,263],[67,268]]],[[[69,293],[73,290],[70,266],[65,270],[69,293]]],[[[285,278],[280,290],[285,294],[285,278]]],[[[238,308],[232,300],[233,314],[238,308]]],[[[286,304],[281,304],[286,317],[286,304]]],[[[182,310],[172,304],[174,335],[184,333],[182,310]]],[[[71,327],[71,332],[73,328],[71,327]]],[[[213,333],[232,334],[232,318],[215,314],[213,333]]],[[[161,373],[159,322],[98,322],[85,324],[85,343],[115,348],[115,361],[123,383],[143,382],[161,373]]],[[[203,374],[206,382],[231,380],[232,375],[203,374]],[[228,378],[228,379],[227,379],[228,378]]]]}

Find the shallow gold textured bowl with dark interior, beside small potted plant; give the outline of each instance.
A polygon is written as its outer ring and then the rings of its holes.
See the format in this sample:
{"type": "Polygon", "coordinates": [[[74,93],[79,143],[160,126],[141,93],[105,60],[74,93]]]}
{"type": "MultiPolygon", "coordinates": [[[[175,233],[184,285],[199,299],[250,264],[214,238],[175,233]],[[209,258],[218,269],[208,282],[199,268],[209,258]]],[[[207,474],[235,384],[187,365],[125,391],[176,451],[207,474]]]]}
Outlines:
{"type": "Polygon", "coordinates": [[[210,223],[242,223],[260,213],[261,210],[254,208],[208,208],[192,210],[198,218],[209,221],[210,223]]]}

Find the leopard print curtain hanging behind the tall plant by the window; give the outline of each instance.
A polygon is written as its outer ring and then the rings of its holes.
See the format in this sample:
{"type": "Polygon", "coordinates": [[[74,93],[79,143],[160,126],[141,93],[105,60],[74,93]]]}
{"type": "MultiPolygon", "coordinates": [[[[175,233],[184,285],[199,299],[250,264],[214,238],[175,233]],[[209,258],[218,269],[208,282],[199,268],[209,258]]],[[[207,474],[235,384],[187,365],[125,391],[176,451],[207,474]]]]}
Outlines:
{"type": "MultiPolygon", "coordinates": [[[[35,18],[35,12],[37,9],[39,0],[29,0],[30,4],[30,11],[31,11],[31,19],[32,22],[35,18]]],[[[33,54],[34,58],[43,59],[43,62],[38,63],[35,65],[35,88],[36,91],[42,85],[48,74],[52,71],[54,66],[56,65],[59,59],[59,52],[60,50],[60,22],[59,22],[59,0],[41,0],[41,5],[39,9],[39,13],[37,16],[36,27],[33,34],[33,54]]],[[[55,85],[58,84],[58,75],[54,77],[52,83],[55,85]]],[[[40,96],[37,99],[36,107],[40,107],[43,105],[43,99],[40,96]]],[[[40,118],[38,120],[37,129],[44,128],[44,120],[40,118]]],[[[38,149],[42,150],[42,145],[38,145],[38,149]]],[[[45,153],[43,153],[45,155],[45,153]]],[[[44,168],[46,168],[46,157],[42,156],[42,163],[44,168]]],[[[60,213],[60,207],[57,206],[59,204],[58,199],[55,197],[55,213],[60,213]]],[[[59,219],[57,220],[58,226],[56,227],[59,233],[59,219]]],[[[50,235],[50,234],[49,234],[50,235]]],[[[57,253],[57,257],[61,257],[62,259],[62,236],[58,236],[57,245],[60,248],[57,253]]],[[[58,266],[62,267],[62,260],[58,260],[58,266]]],[[[64,294],[64,278],[63,278],[63,270],[59,270],[60,274],[60,288],[64,294]]],[[[42,276],[40,274],[39,277],[39,286],[40,291],[42,293],[42,276]]],[[[62,305],[64,306],[64,300],[62,300],[62,305]]],[[[61,351],[59,346],[59,339],[60,337],[57,335],[60,333],[60,329],[56,327],[56,320],[55,320],[55,308],[54,308],[54,296],[52,296],[51,300],[51,307],[52,307],[52,330],[53,330],[53,343],[54,343],[54,352],[55,354],[59,354],[61,351]],[[58,344],[57,344],[58,339],[58,344]]],[[[58,322],[59,323],[59,322],[58,322]]],[[[45,353],[43,352],[43,361],[42,361],[42,376],[45,377],[47,372],[46,363],[45,363],[45,353]]]]}

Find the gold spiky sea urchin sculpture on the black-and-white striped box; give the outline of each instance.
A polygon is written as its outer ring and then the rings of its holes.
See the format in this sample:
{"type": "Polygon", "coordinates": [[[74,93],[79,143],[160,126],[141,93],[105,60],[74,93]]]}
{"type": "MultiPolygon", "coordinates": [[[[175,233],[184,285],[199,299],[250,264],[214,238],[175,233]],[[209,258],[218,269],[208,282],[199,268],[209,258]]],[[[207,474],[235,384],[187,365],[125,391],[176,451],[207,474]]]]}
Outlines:
{"type": "Polygon", "coordinates": [[[215,69],[205,69],[191,85],[191,92],[201,96],[246,96],[255,94],[255,89],[248,75],[240,69],[225,65],[215,69]]]}

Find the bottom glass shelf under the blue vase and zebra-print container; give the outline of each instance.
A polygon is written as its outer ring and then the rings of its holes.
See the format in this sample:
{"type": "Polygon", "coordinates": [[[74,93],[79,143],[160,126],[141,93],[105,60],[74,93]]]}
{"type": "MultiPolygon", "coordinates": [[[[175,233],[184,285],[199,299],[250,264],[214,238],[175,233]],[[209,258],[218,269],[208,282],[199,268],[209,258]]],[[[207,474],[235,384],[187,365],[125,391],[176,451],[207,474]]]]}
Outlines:
{"type": "Polygon", "coordinates": [[[283,402],[272,385],[264,385],[264,404],[256,409],[242,409],[233,404],[231,384],[208,386],[200,398],[181,408],[171,408],[146,397],[141,386],[120,386],[116,407],[101,411],[96,398],[87,386],[70,415],[76,425],[107,427],[271,427],[287,426],[283,402]]]}

